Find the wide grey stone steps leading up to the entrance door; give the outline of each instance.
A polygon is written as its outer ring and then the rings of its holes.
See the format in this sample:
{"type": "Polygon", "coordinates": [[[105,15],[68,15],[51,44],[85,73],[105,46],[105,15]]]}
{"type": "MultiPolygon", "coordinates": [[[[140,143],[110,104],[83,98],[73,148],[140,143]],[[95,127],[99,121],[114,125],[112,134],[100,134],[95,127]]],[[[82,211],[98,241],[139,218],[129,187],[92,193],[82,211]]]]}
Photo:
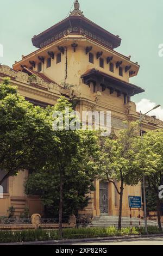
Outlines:
{"type": "MultiPolygon", "coordinates": [[[[156,221],[147,221],[149,226],[157,226],[156,221]]],[[[145,221],[141,220],[141,226],[145,225],[145,221]]],[[[139,227],[139,218],[132,218],[132,226],[139,227]]],[[[118,216],[99,216],[94,217],[89,227],[118,227],[118,216]]],[[[130,227],[130,218],[122,217],[122,228],[130,227]]]]}

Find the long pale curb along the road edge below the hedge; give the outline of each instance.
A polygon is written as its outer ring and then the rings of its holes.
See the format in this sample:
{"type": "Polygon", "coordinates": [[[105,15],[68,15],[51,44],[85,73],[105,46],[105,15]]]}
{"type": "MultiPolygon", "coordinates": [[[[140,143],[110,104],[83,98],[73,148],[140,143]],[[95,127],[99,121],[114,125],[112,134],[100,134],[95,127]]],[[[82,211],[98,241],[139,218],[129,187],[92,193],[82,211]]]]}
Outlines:
{"type": "Polygon", "coordinates": [[[65,240],[48,240],[48,241],[34,241],[34,242],[15,242],[15,243],[0,243],[2,245],[62,245],[64,243],[78,243],[78,242],[98,242],[98,241],[110,241],[110,240],[123,240],[134,239],[143,237],[163,237],[163,234],[152,235],[131,235],[131,236],[112,236],[112,237],[95,237],[85,239],[65,239],[65,240]]]}

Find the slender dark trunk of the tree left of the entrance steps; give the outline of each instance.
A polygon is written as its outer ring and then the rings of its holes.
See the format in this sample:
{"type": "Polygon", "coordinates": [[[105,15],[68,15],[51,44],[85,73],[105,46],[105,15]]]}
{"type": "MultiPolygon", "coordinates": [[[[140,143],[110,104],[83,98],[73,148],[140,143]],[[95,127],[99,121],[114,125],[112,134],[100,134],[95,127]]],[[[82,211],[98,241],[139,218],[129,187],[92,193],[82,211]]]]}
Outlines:
{"type": "Polygon", "coordinates": [[[59,203],[59,238],[62,239],[62,211],[63,211],[63,184],[62,173],[60,173],[60,203],[59,203]]]}

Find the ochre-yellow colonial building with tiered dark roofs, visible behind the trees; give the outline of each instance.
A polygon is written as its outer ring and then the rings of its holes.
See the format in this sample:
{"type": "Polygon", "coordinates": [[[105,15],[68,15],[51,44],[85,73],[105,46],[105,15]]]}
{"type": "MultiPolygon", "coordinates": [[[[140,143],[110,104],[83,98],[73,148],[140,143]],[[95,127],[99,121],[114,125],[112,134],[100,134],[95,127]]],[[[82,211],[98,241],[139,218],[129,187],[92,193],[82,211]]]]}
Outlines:
{"type": "MultiPolygon", "coordinates": [[[[125,128],[123,121],[135,121],[140,113],[131,96],[144,92],[130,83],[140,66],[116,51],[121,38],[99,27],[80,11],[74,3],[70,16],[32,38],[38,49],[15,62],[13,69],[0,65],[0,81],[8,76],[18,92],[35,105],[54,105],[64,95],[78,99],[77,110],[111,111],[114,132],[125,128]],[[33,76],[32,76],[33,75],[33,76]]],[[[146,116],[143,130],[163,128],[163,122],[146,116]]],[[[0,199],[0,216],[8,215],[9,206],[19,216],[28,206],[30,214],[42,214],[38,197],[24,194],[24,179],[28,170],[4,182],[4,198],[0,199]]],[[[118,194],[114,185],[95,180],[89,205],[82,214],[99,216],[118,215],[118,194]]],[[[123,216],[129,216],[128,196],[141,196],[141,185],[126,186],[123,194],[123,216]]],[[[137,212],[133,212],[136,216],[137,212]]]]}

